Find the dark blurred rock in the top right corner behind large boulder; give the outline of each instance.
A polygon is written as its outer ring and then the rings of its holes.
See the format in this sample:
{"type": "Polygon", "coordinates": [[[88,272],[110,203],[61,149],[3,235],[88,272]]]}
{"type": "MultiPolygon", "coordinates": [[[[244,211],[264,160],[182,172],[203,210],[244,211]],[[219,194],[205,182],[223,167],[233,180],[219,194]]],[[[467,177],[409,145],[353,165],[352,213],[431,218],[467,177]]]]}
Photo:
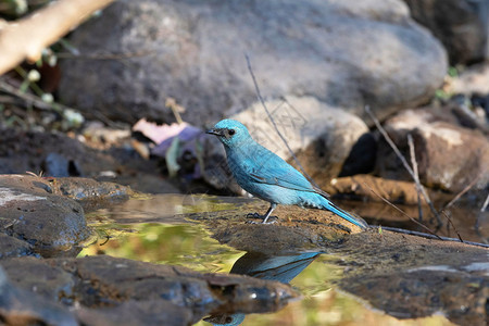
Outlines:
{"type": "Polygon", "coordinates": [[[404,0],[411,15],[426,26],[447,48],[450,63],[466,63],[485,57],[486,1],[404,0]]]}

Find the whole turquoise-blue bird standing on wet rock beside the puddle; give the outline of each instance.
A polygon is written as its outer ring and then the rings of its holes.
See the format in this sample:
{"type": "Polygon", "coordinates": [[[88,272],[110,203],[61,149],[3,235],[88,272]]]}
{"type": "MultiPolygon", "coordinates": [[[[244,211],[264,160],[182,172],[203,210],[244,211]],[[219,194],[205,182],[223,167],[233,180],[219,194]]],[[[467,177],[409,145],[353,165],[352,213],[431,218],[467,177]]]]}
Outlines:
{"type": "Polygon", "coordinates": [[[251,138],[247,127],[234,120],[223,120],[208,130],[224,145],[227,163],[236,181],[251,195],[269,202],[263,218],[266,224],[277,204],[328,210],[354,225],[368,225],[330,202],[328,195],[311,185],[296,168],[251,138]]]}

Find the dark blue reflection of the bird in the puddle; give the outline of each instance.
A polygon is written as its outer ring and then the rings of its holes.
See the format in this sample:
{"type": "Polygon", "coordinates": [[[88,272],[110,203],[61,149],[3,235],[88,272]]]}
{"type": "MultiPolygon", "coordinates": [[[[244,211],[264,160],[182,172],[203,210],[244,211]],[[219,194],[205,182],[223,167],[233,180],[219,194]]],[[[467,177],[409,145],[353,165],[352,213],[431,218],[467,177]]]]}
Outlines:
{"type": "MultiPolygon", "coordinates": [[[[258,252],[247,252],[236,261],[230,273],[288,284],[319,254],[319,252],[304,252],[292,255],[273,256],[258,252]]],[[[204,321],[216,326],[237,326],[244,321],[244,317],[246,314],[242,313],[222,314],[212,315],[204,318],[204,321]]]]}

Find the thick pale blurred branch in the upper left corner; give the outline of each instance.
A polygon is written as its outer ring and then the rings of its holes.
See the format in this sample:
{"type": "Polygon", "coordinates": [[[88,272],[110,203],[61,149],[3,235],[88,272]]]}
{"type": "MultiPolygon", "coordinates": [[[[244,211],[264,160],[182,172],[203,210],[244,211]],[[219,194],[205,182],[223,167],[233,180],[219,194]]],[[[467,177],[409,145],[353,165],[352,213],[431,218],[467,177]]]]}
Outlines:
{"type": "Polygon", "coordinates": [[[59,0],[25,18],[0,27],[0,75],[27,59],[39,60],[49,47],[91,13],[114,0],[59,0]]]}

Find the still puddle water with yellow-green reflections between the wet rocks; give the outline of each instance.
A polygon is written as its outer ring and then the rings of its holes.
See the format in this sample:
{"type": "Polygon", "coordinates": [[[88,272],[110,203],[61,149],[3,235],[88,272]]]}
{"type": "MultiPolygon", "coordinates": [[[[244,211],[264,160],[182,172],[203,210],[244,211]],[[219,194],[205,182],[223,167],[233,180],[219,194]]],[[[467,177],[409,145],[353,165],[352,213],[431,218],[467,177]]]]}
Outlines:
{"type": "MultiPolygon", "coordinates": [[[[109,254],[204,273],[229,273],[236,264],[234,273],[243,272],[246,252],[220,244],[202,225],[178,215],[225,210],[235,204],[239,204],[239,199],[222,203],[196,202],[179,196],[154,196],[98,210],[88,214],[97,239],[79,256],[109,254]]],[[[242,325],[452,325],[441,314],[401,321],[373,310],[362,300],[334,287],[331,281],[341,275],[342,267],[330,263],[327,253],[298,252],[297,255],[299,263],[280,275],[283,280],[290,280],[303,298],[276,313],[247,315],[242,325]],[[301,256],[304,254],[305,258],[301,256]]],[[[263,264],[273,263],[266,261],[263,264]]],[[[261,276],[267,278],[266,275],[261,276]]],[[[211,324],[201,321],[197,325],[211,324]]]]}

